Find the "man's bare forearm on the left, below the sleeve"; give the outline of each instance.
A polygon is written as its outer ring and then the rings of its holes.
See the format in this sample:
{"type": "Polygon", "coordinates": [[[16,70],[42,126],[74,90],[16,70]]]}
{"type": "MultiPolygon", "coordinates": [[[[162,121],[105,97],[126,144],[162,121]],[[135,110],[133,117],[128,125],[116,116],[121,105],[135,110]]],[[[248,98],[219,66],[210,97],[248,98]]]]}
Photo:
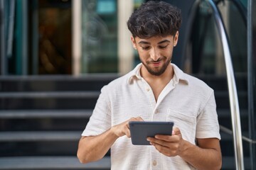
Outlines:
{"type": "Polygon", "coordinates": [[[102,159],[117,138],[111,129],[101,135],[82,137],[78,145],[78,159],[83,164],[102,159]]]}

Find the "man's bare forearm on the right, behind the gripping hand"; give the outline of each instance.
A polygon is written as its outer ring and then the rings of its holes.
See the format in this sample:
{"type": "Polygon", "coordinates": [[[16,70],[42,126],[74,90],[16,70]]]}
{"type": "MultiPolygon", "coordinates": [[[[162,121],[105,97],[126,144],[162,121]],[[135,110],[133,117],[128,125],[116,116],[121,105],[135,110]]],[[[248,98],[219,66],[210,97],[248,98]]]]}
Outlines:
{"type": "Polygon", "coordinates": [[[182,157],[188,164],[191,164],[196,169],[220,169],[222,160],[218,149],[201,148],[185,141],[185,150],[182,152],[182,157]]]}

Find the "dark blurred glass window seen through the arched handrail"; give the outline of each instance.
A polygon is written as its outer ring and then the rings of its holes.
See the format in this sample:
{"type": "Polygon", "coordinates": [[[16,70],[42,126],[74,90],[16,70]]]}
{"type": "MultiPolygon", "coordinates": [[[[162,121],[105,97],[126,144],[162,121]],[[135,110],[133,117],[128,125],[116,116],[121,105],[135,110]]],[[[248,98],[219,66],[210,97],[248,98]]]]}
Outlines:
{"type": "Polygon", "coordinates": [[[187,45],[185,71],[191,74],[225,75],[225,61],[213,13],[206,2],[196,11],[187,45]]]}

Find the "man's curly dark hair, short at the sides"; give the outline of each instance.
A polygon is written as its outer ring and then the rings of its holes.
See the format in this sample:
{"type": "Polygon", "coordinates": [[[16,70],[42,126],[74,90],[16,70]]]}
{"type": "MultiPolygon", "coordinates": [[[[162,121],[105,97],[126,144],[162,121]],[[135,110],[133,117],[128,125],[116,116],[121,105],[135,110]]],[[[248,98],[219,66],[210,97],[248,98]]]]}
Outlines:
{"type": "Polygon", "coordinates": [[[181,21],[180,9],[164,1],[148,1],[132,13],[127,26],[134,38],[165,37],[174,35],[181,21]]]}

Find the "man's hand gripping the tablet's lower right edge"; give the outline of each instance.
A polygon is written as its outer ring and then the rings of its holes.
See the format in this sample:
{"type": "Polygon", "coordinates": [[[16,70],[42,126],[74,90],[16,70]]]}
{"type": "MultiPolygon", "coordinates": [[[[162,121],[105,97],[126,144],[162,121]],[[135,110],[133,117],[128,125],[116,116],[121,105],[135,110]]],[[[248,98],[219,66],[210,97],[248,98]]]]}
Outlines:
{"type": "Polygon", "coordinates": [[[174,157],[182,152],[183,138],[181,131],[178,128],[174,128],[171,136],[156,135],[155,137],[148,137],[147,140],[161,154],[164,154],[167,157],[174,157]]]}

